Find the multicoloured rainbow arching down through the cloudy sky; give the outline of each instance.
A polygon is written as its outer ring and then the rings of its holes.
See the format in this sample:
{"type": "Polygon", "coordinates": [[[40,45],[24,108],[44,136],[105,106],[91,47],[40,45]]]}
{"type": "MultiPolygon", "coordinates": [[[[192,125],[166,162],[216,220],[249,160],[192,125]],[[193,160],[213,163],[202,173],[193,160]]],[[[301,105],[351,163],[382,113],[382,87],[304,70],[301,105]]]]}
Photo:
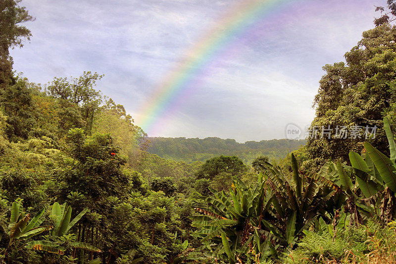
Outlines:
{"type": "Polygon", "coordinates": [[[148,133],[155,134],[156,127],[162,128],[166,113],[175,110],[197,83],[191,85],[195,77],[204,71],[216,54],[224,51],[230,42],[247,32],[258,21],[282,9],[296,0],[242,0],[215,23],[178,61],[163,81],[154,89],[150,99],[138,111],[136,124],[148,133]]]}

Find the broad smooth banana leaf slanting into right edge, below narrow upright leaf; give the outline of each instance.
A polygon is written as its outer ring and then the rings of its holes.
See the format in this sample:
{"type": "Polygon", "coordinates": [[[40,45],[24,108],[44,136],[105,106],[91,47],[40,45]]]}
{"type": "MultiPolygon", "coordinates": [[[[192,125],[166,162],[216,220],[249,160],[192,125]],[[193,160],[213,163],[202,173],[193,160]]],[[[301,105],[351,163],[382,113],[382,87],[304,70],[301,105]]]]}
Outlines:
{"type": "Polygon", "coordinates": [[[374,148],[370,143],[365,142],[364,147],[366,148],[367,154],[373,160],[374,165],[377,167],[385,184],[392,191],[396,192],[396,168],[394,162],[374,148]]]}

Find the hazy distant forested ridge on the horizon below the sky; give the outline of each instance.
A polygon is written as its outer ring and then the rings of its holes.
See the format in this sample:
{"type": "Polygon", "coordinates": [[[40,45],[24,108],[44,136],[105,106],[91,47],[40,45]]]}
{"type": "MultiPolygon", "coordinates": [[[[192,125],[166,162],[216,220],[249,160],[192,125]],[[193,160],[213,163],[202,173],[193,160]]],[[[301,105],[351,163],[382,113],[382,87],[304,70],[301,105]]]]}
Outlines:
{"type": "Polygon", "coordinates": [[[235,155],[251,164],[254,158],[264,155],[270,159],[285,158],[305,145],[305,140],[273,139],[238,143],[234,139],[210,138],[148,138],[148,152],[161,158],[184,162],[205,161],[219,155],[235,155]]]}

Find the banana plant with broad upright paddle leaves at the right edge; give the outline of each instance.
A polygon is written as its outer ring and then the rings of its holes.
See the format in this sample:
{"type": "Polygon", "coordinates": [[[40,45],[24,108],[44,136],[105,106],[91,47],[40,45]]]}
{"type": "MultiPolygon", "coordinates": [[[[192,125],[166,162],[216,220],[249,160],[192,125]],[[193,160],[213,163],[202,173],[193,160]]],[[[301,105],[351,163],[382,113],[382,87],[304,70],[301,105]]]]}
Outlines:
{"type": "Polygon", "coordinates": [[[384,118],[390,157],[388,158],[370,143],[364,143],[363,154],[349,152],[351,166],[328,161],[321,171],[335,186],[345,194],[345,209],[352,214],[354,223],[361,223],[365,218],[378,215],[384,223],[396,217],[396,147],[395,140],[387,118],[384,118]],[[355,178],[352,183],[351,178],[355,178]],[[360,190],[365,199],[357,195],[360,190]]]}

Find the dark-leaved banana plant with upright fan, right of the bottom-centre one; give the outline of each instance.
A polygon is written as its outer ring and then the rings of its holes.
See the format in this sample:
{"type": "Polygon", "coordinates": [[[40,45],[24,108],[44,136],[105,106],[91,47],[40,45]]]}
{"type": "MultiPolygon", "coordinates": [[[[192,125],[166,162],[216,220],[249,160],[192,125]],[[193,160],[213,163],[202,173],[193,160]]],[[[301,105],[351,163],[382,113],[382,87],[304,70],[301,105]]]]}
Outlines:
{"type": "Polygon", "coordinates": [[[328,180],[319,174],[300,171],[294,154],[291,156],[293,179],[289,179],[279,166],[262,164],[274,199],[261,220],[264,228],[260,232],[287,249],[293,249],[303,230],[326,214],[325,203],[335,194],[328,180]]]}

